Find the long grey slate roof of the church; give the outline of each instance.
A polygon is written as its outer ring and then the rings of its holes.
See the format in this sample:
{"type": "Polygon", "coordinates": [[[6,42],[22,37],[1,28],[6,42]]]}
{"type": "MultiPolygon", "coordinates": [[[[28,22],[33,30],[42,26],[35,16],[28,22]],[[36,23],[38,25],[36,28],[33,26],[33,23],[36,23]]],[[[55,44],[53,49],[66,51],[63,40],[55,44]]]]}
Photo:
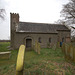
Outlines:
{"type": "Polygon", "coordinates": [[[58,33],[58,30],[69,30],[65,25],[19,22],[16,32],[58,33]]]}

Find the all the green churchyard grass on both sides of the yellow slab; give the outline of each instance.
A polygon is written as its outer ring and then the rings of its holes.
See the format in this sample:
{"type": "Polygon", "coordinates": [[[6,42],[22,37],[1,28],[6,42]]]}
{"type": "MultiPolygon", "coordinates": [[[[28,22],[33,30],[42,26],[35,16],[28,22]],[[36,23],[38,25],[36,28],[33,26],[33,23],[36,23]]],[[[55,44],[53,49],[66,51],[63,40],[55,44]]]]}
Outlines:
{"type": "MultiPolygon", "coordinates": [[[[9,51],[10,43],[0,43],[0,52],[9,51]]],[[[15,75],[18,50],[11,50],[10,59],[0,59],[0,75],[15,75]]],[[[24,75],[55,75],[64,72],[65,75],[75,75],[75,64],[65,61],[61,48],[56,50],[43,48],[41,54],[26,51],[24,75]]],[[[59,74],[60,75],[60,74],[59,74]]]]}

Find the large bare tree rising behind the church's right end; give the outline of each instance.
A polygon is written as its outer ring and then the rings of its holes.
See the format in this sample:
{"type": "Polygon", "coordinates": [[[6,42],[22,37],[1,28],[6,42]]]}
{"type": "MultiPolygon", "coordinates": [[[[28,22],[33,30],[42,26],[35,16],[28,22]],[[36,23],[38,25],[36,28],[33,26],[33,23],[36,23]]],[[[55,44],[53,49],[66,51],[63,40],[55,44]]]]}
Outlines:
{"type": "Polygon", "coordinates": [[[63,19],[59,19],[55,23],[67,25],[71,29],[71,35],[75,37],[75,27],[73,26],[75,25],[75,0],[70,0],[63,5],[60,13],[63,19]]]}

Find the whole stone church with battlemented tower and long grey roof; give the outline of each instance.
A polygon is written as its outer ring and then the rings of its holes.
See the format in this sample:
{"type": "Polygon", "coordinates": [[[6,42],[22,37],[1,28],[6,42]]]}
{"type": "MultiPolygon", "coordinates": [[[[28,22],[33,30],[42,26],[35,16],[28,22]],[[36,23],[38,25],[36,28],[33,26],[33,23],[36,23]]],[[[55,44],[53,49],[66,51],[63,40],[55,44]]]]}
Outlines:
{"type": "Polygon", "coordinates": [[[65,25],[20,22],[19,14],[10,13],[11,47],[18,49],[21,44],[33,48],[39,42],[41,48],[57,42],[70,42],[70,29],[65,25]]]}

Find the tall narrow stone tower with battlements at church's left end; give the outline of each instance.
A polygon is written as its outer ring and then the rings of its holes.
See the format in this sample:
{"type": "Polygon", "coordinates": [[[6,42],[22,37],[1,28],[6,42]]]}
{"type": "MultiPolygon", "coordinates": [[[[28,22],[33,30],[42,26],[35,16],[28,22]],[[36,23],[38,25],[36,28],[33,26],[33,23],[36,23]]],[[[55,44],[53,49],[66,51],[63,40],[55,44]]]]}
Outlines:
{"type": "Polygon", "coordinates": [[[17,13],[10,13],[10,38],[11,38],[11,47],[14,48],[14,39],[15,39],[15,32],[16,28],[19,24],[19,14],[17,13]]]}

